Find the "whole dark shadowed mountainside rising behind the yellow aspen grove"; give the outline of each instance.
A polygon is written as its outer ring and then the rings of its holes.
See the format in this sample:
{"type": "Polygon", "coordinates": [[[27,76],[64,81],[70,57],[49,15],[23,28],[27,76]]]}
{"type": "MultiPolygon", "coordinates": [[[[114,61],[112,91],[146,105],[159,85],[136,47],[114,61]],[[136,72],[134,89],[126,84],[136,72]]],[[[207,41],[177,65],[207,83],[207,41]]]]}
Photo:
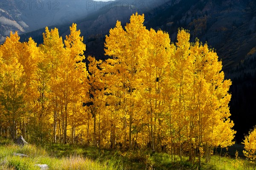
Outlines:
{"type": "MultiPolygon", "coordinates": [[[[122,1],[119,1],[122,2],[122,1]]],[[[256,1],[255,0],[144,0],[143,6],[136,1],[113,4],[76,21],[84,36],[85,55],[105,59],[104,42],[109,29],[116,20],[122,25],[131,14],[145,14],[145,26],[169,32],[176,41],[177,29],[190,30],[191,40],[198,37],[207,41],[222,60],[226,78],[233,84],[230,112],[241,141],[244,133],[256,125],[256,1]],[[136,2],[136,3],[134,3],[136,2]]],[[[56,26],[62,36],[69,34],[69,25],[56,26]]],[[[44,29],[21,35],[21,39],[32,36],[42,43],[44,29]]]]}

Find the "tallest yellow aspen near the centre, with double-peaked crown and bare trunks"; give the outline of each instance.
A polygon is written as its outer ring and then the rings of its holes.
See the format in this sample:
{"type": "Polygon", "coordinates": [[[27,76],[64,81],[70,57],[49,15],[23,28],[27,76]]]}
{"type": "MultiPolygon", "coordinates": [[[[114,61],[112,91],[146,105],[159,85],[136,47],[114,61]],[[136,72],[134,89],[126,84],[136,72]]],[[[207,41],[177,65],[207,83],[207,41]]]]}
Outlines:
{"type": "MultiPolygon", "coordinates": [[[[139,120],[140,103],[138,102],[139,90],[141,89],[141,79],[139,72],[142,68],[142,61],[146,54],[147,40],[145,35],[148,30],[143,25],[144,14],[133,14],[130,23],[127,23],[125,30],[122,29],[121,23],[117,21],[116,27],[110,30],[110,35],[106,36],[105,55],[113,57],[115,61],[114,69],[116,70],[116,82],[121,92],[122,109],[124,111],[124,144],[127,141],[129,148],[132,148],[132,132],[136,126],[133,126],[139,120]],[[128,123],[128,126],[127,126],[128,123]]],[[[107,61],[113,63],[112,61],[107,61]]]]}

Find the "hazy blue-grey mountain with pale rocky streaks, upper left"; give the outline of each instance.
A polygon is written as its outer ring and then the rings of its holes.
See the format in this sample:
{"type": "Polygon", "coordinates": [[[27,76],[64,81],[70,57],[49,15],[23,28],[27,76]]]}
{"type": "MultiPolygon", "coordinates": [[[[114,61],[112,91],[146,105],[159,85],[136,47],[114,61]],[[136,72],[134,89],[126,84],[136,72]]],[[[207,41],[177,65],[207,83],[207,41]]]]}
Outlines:
{"type": "Polygon", "coordinates": [[[72,23],[103,5],[93,0],[1,0],[0,43],[10,31],[20,35],[46,26],[72,23]]]}

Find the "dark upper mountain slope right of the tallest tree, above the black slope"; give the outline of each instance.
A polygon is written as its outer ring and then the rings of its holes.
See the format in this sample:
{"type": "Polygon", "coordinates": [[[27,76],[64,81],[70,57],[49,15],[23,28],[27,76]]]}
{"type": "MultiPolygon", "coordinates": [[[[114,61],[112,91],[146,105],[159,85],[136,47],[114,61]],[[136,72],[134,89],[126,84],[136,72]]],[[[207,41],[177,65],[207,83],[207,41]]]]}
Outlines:
{"type": "Polygon", "coordinates": [[[239,63],[256,45],[256,2],[253,0],[181,0],[166,3],[161,10],[147,15],[148,27],[169,32],[175,41],[177,29],[190,30],[215,48],[223,61],[224,71],[239,63]]]}

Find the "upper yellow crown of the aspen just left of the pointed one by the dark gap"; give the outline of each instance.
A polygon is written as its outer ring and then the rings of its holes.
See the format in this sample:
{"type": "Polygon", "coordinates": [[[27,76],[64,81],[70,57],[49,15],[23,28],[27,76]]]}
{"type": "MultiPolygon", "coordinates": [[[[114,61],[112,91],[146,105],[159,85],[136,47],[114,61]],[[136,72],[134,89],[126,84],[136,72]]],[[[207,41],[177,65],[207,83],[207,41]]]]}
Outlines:
{"type": "MultiPolygon", "coordinates": [[[[57,108],[59,111],[61,110],[59,99],[56,96],[58,88],[55,88],[55,85],[58,80],[57,70],[60,67],[61,57],[65,55],[64,43],[56,28],[49,30],[46,27],[43,38],[44,42],[39,45],[42,57],[38,62],[37,70],[38,107],[36,109],[38,109],[39,117],[42,117],[44,120],[49,120],[52,118],[52,115],[55,120],[57,108]]],[[[50,120],[52,121],[52,119],[50,120]]],[[[55,125],[56,122],[54,122],[55,125]]]]}

